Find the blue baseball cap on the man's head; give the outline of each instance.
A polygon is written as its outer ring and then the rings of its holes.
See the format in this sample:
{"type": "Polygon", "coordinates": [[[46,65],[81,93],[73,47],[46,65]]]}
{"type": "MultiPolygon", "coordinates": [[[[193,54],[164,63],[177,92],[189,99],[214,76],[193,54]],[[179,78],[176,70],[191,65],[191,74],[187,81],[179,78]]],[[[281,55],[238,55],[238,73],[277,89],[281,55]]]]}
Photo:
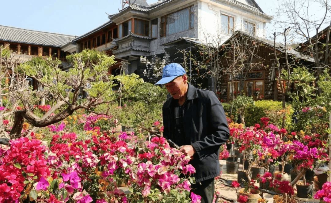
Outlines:
{"type": "Polygon", "coordinates": [[[154,85],[166,84],[168,82],[171,82],[176,77],[184,74],[186,74],[186,72],[180,64],[177,63],[168,64],[163,68],[162,79],[159,80],[154,85]]]}

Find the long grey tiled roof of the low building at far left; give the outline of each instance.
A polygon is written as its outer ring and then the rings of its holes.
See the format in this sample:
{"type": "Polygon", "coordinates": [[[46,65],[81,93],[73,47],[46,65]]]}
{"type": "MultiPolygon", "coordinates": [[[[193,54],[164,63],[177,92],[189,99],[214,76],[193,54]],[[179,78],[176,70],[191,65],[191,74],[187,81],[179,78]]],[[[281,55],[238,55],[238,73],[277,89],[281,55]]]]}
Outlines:
{"type": "Polygon", "coordinates": [[[75,36],[71,35],[25,30],[0,25],[1,41],[61,47],[71,42],[74,38],[75,36]]]}

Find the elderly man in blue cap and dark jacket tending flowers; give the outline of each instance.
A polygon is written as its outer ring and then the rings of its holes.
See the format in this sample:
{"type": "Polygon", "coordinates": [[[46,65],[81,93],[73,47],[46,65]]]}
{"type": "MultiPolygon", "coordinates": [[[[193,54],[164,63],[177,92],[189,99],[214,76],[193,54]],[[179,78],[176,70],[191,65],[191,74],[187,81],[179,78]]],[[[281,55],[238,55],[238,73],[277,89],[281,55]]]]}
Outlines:
{"type": "Polygon", "coordinates": [[[172,96],[162,108],[163,135],[191,157],[189,163],[196,170],[192,192],[202,197],[202,203],[212,203],[214,178],[220,173],[219,147],[229,139],[223,107],[212,91],[189,84],[180,64],[166,65],[155,84],[164,84],[172,96]]]}

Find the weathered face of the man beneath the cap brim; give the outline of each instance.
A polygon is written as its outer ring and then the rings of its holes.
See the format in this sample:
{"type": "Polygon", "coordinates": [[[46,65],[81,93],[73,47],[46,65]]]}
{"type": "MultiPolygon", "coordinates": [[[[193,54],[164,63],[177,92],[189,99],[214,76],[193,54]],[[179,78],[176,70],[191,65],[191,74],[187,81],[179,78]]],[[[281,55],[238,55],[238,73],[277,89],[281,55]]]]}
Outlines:
{"type": "Polygon", "coordinates": [[[176,77],[171,82],[168,82],[165,84],[166,90],[170,93],[170,95],[173,97],[173,99],[178,100],[181,97],[185,96],[186,93],[186,87],[187,84],[187,76],[182,75],[176,77]]]}

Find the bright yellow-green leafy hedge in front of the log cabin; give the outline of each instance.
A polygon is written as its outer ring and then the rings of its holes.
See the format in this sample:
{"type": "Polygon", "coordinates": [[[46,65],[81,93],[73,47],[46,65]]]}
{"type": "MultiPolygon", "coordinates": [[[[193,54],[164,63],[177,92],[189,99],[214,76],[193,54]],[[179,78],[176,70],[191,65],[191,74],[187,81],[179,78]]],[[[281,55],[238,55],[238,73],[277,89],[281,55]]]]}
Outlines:
{"type": "Polygon", "coordinates": [[[254,105],[250,105],[245,111],[245,123],[246,126],[254,126],[255,124],[261,124],[260,118],[270,118],[270,123],[281,127],[282,115],[286,116],[285,128],[290,130],[292,128],[292,115],[294,110],[291,106],[287,106],[286,110],[282,110],[281,101],[261,100],[255,101],[254,105]]]}

